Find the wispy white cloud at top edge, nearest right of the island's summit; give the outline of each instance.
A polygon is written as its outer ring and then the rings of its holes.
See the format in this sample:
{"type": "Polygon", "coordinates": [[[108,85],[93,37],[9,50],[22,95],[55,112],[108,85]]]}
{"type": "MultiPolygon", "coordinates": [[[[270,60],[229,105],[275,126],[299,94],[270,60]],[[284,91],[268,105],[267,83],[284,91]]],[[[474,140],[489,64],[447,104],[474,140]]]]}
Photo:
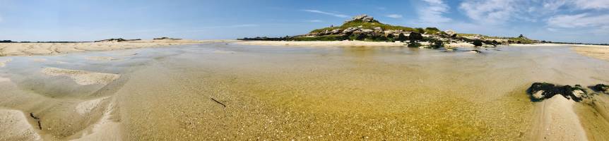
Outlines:
{"type": "Polygon", "coordinates": [[[417,13],[419,20],[424,23],[445,23],[452,19],[442,16],[444,13],[448,13],[450,7],[444,4],[442,0],[422,0],[427,3],[427,6],[418,8],[417,13]]]}

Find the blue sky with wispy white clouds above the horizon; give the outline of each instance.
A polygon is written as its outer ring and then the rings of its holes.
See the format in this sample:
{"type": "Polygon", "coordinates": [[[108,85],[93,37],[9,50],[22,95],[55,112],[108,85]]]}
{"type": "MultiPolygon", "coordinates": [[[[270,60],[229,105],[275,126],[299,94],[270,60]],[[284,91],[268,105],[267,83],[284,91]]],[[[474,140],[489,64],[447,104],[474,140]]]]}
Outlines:
{"type": "Polygon", "coordinates": [[[277,37],[341,25],[362,13],[408,27],[609,43],[609,0],[0,0],[0,40],[277,37]]]}

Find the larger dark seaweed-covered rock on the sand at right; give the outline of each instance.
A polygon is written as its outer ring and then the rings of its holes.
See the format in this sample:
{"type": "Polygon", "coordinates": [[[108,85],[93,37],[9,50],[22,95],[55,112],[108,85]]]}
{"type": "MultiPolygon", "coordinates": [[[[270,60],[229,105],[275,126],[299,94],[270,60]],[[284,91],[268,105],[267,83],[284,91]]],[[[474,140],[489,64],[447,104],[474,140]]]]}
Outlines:
{"type": "Polygon", "coordinates": [[[535,82],[531,87],[528,87],[526,92],[533,102],[541,102],[544,99],[550,99],[557,94],[560,94],[567,99],[573,99],[575,102],[581,102],[582,99],[588,97],[586,90],[580,85],[571,87],[569,85],[553,85],[546,82],[535,82]]]}

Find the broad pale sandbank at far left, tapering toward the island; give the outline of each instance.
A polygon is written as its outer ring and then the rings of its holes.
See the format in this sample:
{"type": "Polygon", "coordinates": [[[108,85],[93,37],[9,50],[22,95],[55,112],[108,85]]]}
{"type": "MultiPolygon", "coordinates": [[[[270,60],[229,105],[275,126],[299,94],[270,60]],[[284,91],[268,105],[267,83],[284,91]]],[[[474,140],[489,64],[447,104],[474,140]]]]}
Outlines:
{"type": "Polygon", "coordinates": [[[189,40],[157,39],[126,42],[82,42],[82,43],[2,43],[0,56],[32,56],[65,54],[83,51],[108,51],[136,49],[143,47],[165,47],[181,44],[201,44],[209,42],[235,42],[234,40],[189,40]]]}

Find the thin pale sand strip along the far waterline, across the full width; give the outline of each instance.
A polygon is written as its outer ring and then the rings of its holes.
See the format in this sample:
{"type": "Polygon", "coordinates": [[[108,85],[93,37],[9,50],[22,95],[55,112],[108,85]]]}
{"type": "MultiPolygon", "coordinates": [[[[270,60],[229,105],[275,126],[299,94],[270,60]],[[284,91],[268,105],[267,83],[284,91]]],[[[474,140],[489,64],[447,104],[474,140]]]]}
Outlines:
{"type": "MultiPolygon", "coordinates": [[[[169,47],[182,44],[202,44],[213,42],[233,42],[241,45],[282,46],[282,47],[407,47],[403,42],[367,42],[367,41],[239,41],[232,39],[189,40],[189,39],[156,39],[156,40],[127,40],[123,42],[2,42],[1,56],[45,56],[68,54],[85,51],[110,51],[119,49],[138,49],[148,47],[169,47]]],[[[422,42],[427,45],[429,43],[422,42]]],[[[505,44],[506,46],[571,46],[577,54],[594,59],[609,61],[609,46],[591,44],[505,44]]],[[[467,42],[444,44],[447,48],[474,47],[467,42]]]]}

